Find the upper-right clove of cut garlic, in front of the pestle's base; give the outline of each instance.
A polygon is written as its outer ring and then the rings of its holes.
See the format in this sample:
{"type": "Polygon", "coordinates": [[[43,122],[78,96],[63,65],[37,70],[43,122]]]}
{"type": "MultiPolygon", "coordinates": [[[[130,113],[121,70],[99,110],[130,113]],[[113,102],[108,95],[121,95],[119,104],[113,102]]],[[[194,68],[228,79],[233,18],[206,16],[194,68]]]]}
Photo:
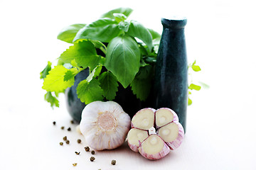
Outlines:
{"type": "Polygon", "coordinates": [[[156,128],[171,122],[178,122],[178,115],[170,108],[159,108],[156,110],[156,128]]]}

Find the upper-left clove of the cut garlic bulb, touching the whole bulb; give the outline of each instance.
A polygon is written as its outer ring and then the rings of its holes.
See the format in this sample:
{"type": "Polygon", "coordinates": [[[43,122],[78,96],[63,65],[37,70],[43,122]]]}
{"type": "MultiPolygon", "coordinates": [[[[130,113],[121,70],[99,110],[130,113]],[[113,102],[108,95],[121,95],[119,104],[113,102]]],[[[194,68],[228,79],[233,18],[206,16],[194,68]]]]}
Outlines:
{"type": "Polygon", "coordinates": [[[154,126],[154,108],[143,108],[132,118],[132,128],[136,127],[142,130],[149,130],[154,126]]]}

